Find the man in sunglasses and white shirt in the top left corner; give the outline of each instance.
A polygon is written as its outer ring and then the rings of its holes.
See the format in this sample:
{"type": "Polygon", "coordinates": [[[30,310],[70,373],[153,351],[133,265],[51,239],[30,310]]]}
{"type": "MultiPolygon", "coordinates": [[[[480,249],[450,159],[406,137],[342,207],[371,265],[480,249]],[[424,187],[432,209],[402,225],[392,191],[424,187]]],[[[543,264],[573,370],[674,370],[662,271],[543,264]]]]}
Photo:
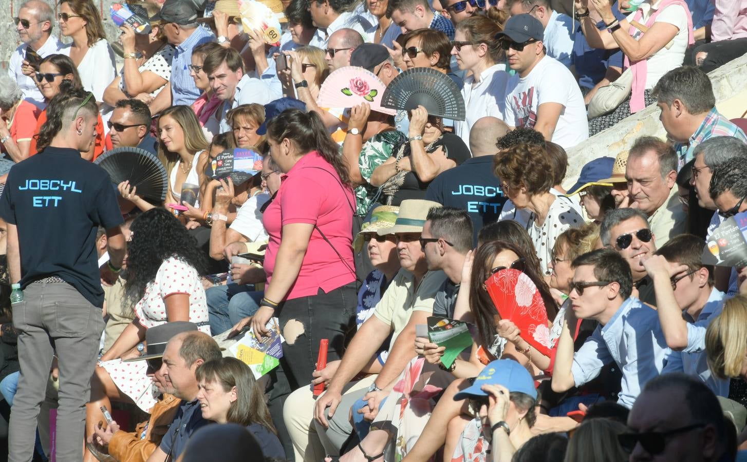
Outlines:
{"type": "Polygon", "coordinates": [[[38,107],[44,107],[45,103],[32,78],[39,70],[37,60],[58,53],[64,47],[57,37],[52,36],[54,20],[52,8],[41,0],[26,1],[18,10],[18,16],[13,18],[22,44],[10,56],[7,72],[21,88],[23,97],[38,107]]]}

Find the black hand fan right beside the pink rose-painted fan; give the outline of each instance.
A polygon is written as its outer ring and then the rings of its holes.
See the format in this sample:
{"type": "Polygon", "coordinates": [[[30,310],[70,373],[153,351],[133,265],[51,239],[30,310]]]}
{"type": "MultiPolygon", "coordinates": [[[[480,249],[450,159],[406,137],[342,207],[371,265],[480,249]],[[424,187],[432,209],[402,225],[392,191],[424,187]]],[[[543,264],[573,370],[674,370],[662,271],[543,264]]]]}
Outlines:
{"type": "Polygon", "coordinates": [[[464,120],[465,100],[453,80],[436,69],[415,67],[394,78],[384,90],[382,106],[413,110],[421,105],[429,116],[464,120]]]}

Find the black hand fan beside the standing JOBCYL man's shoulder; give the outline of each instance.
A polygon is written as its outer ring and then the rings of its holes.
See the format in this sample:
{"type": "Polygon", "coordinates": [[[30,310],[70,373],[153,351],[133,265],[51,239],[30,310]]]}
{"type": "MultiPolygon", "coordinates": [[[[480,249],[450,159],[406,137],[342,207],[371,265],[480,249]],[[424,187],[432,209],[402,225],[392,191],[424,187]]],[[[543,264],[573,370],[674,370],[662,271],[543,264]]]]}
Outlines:
{"type": "Polygon", "coordinates": [[[114,187],[129,181],[137,187],[137,196],[155,202],[166,200],[168,175],[166,167],[154,154],[140,148],[117,148],[96,157],[98,163],[111,177],[114,187]]]}

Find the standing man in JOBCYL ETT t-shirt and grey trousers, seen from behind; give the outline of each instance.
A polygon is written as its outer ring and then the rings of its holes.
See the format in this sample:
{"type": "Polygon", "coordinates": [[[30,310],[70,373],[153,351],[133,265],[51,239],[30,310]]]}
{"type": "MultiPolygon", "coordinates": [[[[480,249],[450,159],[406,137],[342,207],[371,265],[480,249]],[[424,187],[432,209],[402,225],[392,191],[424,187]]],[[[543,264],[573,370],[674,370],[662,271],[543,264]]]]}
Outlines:
{"type": "Polygon", "coordinates": [[[10,169],[0,196],[7,224],[10,281],[23,301],[13,304],[21,374],[10,417],[10,461],[34,452],[37,415],[52,355],[60,370],[56,456],[80,461],[90,376],[104,328],[100,278],[113,282],[125,239],[109,175],[81,159],[96,137],[98,107],[91,93],[52,99],[40,132],[40,153],[10,169]],[[96,231],[106,229],[110,261],[99,272],[96,231]]]}

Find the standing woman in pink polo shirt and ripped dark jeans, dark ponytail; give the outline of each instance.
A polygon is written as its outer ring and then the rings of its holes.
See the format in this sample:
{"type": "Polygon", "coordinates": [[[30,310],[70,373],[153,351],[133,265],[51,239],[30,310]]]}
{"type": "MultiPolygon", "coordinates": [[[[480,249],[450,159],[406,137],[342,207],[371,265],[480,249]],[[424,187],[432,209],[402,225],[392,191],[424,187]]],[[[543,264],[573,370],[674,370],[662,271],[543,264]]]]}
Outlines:
{"type": "Polygon", "coordinates": [[[260,336],[271,317],[279,318],[282,367],[296,390],[312,378],[319,340],[329,339],[329,361],[341,358],[344,332],[356,313],[350,231],[356,198],[338,146],[317,113],[285,110],[267,122],[267,143],[282,184],[263,213],[270,235],[267,287],[251,322],[260,336]]]}

